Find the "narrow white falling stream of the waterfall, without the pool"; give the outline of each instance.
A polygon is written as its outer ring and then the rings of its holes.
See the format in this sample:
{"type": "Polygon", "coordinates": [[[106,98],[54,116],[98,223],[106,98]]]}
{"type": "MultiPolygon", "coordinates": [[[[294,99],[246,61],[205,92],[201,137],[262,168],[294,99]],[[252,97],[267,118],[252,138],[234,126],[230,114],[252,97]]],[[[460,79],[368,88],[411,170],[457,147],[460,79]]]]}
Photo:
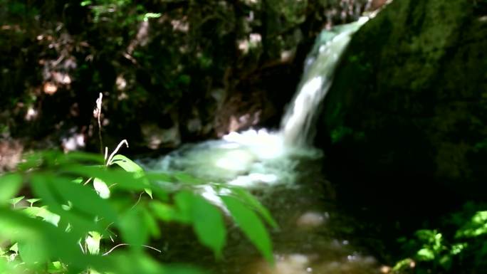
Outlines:
{"type": "Polygon", "coordinates": [[[281,122],[281,135],[286,146],[304,147],[313,141],[318,108],[332,85],[335,68],[352,34],[367,20],[367,17],[361,17],[353,23],[323,31],[316,38],[315,46],[305,60],[298,92],[281,122]]]}

